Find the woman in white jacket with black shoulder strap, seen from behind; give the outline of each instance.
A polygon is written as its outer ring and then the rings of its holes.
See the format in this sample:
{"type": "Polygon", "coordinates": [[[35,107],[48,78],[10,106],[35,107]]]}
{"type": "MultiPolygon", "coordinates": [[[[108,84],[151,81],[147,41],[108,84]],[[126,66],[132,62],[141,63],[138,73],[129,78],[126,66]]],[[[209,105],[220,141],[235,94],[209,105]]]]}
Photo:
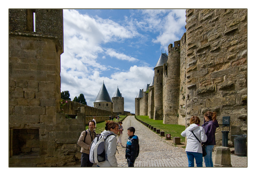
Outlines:
{"type": "Polygon", "coordinates": [[[188,167],[194,167],[194,158],[196,159],[196,166],[203,167],[203,151],[201,143],[196,139],[196,137],[205,142],[207,136],[205,134],[204,128],[200,125],[200,119],[197,116],[193,116],[190,119],[190,125],[181,133],[181,136],[187,136],[187,146],[185,151],[188,157],[188,167]],[[193,133],[196,137],[193,135],[193,133]]]}

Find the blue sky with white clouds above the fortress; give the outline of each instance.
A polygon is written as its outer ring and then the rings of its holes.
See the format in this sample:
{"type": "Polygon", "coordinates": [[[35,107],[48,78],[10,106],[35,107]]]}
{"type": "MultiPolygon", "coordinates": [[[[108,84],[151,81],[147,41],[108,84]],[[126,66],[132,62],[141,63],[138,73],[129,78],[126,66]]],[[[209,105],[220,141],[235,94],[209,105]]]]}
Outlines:
{"type": "Polygon", "coordinates": [[[64,9],[61,91],[71,100],[93,102],[104,84],[117,85],[124,110],[135,113],[135,97],[154,76],[161,52],[185,32],[185,9],[64,9]]]}

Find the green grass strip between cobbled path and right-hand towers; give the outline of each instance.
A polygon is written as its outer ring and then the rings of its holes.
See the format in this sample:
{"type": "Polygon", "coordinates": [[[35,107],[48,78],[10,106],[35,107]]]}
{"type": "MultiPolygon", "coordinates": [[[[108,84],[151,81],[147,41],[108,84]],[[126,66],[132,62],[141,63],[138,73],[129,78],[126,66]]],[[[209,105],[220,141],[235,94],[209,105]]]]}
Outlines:
{"type": "MultiPolygon", "coordinates": [[[[146,122],[147,124],[160,129],[160,131],[164,131],[165,134],[171,134],[171,137],[180,137],[182,142],[185,142],[185,137],[180,135],[181,132],[185,130],[185,126],[183,125],[173,125],[173,124],[163,124],[163,120],[154,120],[148,118],[148,116],[136,116],[139,120],[146,122]]],[[[155,132],[156,133],[156,132],[155,132]]]]}

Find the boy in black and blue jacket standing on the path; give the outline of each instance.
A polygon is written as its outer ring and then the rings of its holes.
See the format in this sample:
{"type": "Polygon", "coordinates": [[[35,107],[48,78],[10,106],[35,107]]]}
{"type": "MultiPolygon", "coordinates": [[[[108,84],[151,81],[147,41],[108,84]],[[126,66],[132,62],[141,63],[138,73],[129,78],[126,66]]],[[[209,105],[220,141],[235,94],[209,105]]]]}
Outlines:
{"type": "Polygon", "coordinates": [[[125,149],[125,159],[127,159],[128,167],[134,167],[135,159],[138,157],[140,151],[139,138],[134,133],[135,128],[129,127],[127,129],[129,137],[125,149]]]}

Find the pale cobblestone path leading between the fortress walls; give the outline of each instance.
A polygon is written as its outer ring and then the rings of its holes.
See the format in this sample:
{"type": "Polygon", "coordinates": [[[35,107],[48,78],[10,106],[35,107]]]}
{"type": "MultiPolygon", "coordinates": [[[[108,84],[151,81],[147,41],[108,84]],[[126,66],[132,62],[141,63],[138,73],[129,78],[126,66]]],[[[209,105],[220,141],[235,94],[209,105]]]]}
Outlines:
{"type": "MultiPolygon", "coordinates": [[[[170,142],[166,142],[158,134],[147,128],[135,119],[128,116],[123,121],[122,144],[125,147],[127,142],[127,128],[133,126],[135,135],[139,137],[140,153],[135,160],[134,167],[188,167],[187,154],[184,148],[176,147],[170,142]]],[[[125,159],[125,148],[117,146],[116,153],[118,167],[128,167],[125,159]]],[[[246,167],[247,157],[231,155],[233,167],[246,167]]],[[[196,166],[196,163],[195,163],[196,166]]],[[[203,163],[203,167],[205,167],[203,163]]]]}

